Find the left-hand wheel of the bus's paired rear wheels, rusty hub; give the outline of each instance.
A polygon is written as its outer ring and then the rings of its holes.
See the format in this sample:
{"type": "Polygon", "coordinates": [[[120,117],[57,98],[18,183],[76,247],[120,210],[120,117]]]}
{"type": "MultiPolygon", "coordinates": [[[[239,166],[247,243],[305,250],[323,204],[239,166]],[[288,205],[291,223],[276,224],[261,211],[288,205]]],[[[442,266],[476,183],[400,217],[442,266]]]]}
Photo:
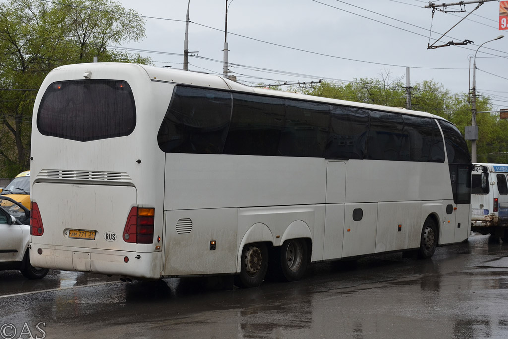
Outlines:
{"type": "Polygon", "coordinates": [[[240,274],[235,276],[235,285],[240,288],[258,287],[268,271],[268,249],[263,242],[243,246],[240,274]]]}

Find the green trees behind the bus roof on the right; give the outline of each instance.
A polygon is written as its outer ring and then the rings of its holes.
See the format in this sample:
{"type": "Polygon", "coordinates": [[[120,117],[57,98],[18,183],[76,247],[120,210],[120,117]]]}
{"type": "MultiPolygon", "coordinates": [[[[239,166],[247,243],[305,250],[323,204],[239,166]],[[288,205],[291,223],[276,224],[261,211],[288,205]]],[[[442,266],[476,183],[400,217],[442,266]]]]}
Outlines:
{"type": "MultiPolygon", "coordinates": [[[[292,91],[295,88],[291,89],[292,91]]],[[[381,79],[355,79],[347,84],[322,82],[310,89],[300,90],[303,94],[367,104],[406,107],[406,89],[401,79],[391,80],[389,74],[381,79]]],[[[411,109],[442,116],[464,134],[471,125],[471,103],[467,94],[452,94],[442,84],[423,81],[412,85],[411,109]]],[[[477,99],[478,111],[492,111],[488,97],[477,99]]],[[[508,121],[499,119],[497,113],[478,113],[479,140],[477,161],[508,163],[508,121]]],[[[469,149],[471,143],[468,141],[469,149]]]]}

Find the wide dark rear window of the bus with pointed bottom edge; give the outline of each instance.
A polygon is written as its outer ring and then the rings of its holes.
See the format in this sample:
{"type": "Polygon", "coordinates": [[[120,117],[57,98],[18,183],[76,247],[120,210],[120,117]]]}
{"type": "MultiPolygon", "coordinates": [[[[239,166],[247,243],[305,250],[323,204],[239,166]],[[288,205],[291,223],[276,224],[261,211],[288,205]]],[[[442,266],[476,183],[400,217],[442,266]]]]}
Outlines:
{"type": "Polygon", "coordinates": [[[54,82],[44,93],[37,115],[42,134],[82,142],[123,137],[135,127],[131,86],[118,80],[54,82]]]}

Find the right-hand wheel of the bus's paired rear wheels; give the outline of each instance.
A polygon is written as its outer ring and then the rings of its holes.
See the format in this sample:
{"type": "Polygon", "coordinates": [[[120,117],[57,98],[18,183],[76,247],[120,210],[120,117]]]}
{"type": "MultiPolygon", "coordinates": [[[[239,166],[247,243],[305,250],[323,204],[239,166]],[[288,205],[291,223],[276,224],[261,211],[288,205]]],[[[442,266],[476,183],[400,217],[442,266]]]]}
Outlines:
{"type": "Polygon", "coordinates": [[[280,246],[278,257],[280,278],[294,282],[303,278],[308,263],[307,243],[303,239],[289,239],[280,246]]]}

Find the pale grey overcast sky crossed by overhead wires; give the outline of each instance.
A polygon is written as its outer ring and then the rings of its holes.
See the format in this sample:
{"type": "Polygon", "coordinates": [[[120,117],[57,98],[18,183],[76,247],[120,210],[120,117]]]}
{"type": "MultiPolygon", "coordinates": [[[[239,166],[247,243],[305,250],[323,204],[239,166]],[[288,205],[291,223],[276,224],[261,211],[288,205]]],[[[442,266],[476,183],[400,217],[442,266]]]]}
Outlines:
{"type": "MultiPolygon", "coordinates": [[[[451,3],[457,3],[453,0],[451,3]]],[[[187,0],[119,0],[146,20],[146,38],[122,47],[158,51],[148,55],[156,66],[182,68],[187,0]]],[[[442,1],[437,3],[442,4],[442,1]]],[[[419,0],[229,0],[230,74],[247,85],[307,82],[319,79],[404,78],[411,84],[441,83],[453,93],[467,93],[469,56],[477,54],[477,89],[496,106],[508,107],[508,30],[498,30],[499,2],[484,3],[440,39],[473,41],[467,46],[427,49],[466,13],[442,13],[423,8],[419,0]],[[432,30],[432,34],[430,34],[432,30]],[[430,40],[429,40],[430,35],[430,40]],[[260,70],[263,69],[263,70],[260,70]]],[[[189,69],[223,73],[225,0],[190,0],[189,69]]],[[[460,6],[448,7],[449,11],[460,6]]],[[[134,50],[133,50],[134,51],[134,50]]],[[[471,72],[472,73],[472,72],[471,72]]],[[[471,78],[472,81],[472,78],[471,78]]]]}

